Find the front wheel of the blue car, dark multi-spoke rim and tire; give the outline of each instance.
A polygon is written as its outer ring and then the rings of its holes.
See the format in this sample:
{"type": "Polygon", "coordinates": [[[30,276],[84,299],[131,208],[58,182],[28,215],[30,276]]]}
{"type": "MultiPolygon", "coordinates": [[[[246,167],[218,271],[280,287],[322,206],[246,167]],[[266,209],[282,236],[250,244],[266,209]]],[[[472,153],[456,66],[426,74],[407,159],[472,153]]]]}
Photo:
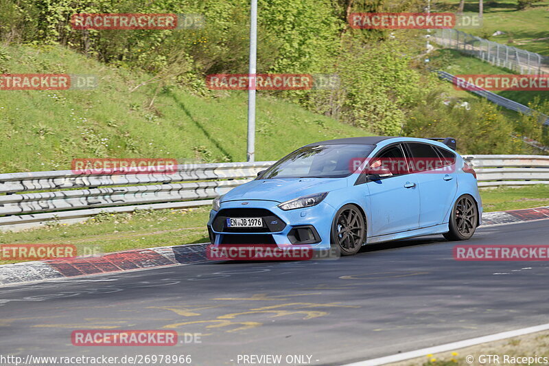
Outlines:
{"type": "Polygon", "coordinates": [[[341,255],[360,251],[366,238],[366,224],[362,212],[355,205],[344,205],[336,212],[331,223],[331,245],[341,255]]]}

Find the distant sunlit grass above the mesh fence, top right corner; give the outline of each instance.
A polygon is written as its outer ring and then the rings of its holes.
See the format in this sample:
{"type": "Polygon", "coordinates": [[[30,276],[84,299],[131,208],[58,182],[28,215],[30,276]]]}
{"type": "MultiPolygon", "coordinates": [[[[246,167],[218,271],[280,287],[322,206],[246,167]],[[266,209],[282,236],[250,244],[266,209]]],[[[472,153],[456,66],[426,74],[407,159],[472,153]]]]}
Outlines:
{"type": "MultiPolygon", "coordinates": [[[[458,4],[459,0],[445,0],[434,5],[434,11],[456,11],[458,4]]],[[[535,3],[525,10],[517,10],[516,4],[516,0],[484,1],[482,27],[464,31],[490,41],[549,56],[549,1],[535,3]],[[498,30],[505,34],[492,36],[498,30]]],[[[464,10],[478,12],[478,1],[466,0],[464,10]]]]}

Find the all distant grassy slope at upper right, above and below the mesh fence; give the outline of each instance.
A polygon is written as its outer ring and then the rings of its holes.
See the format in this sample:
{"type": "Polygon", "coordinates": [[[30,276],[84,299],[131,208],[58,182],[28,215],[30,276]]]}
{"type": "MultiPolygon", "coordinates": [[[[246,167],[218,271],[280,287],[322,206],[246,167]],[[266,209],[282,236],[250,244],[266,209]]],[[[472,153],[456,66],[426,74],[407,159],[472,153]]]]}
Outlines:
{"type": "MultiPolygon", "coordinates": [[[[459,3],[459,0],[443,0],[434,5],[434,10],[455,12],[458,10],[459,3]]],[[[517,3],[517,0],[484,1],[483,26],[479,29],[464,31],[504,45],[549,55],[549,1],[537,1],[522,10],[517,9],[517,3]],[[493,36],[492,34],[496,31],[504,32],[504,34],[493,36]]],[[[478,12],[478,1],[466,0],[464,11],[478,12]]],[[[514,73],[451,49],[442,49],[436,52],[432,56],[432,66],[454,75],[514,73]]],[[[494,93],[530,106],[540,113],[548,113],[549,92],[547,91],[494,91],[494,93]]],[[[515,124],[516,135],[526,135],[547,144],[548,130],[540,128],[535,117],[527,118],[505,108],[499,109],[515,124]]],[[[539,151],[536,150],[535,153],[539,153],[539,151]]]]}

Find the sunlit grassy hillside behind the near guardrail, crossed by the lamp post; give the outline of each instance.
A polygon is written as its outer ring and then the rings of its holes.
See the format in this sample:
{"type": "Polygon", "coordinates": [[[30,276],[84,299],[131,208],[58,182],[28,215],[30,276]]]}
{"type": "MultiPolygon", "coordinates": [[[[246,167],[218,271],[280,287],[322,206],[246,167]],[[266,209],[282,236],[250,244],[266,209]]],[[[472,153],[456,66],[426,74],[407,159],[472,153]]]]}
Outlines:
{"type": "MultiPolygon", "coordinates": [[[[144,73],[60,46],[0,47],[0,71],[99,77],[89,91],[0,91],[0,172],[65,170],[77,157],[246,160],[244,92],[198,96],[158,88],[144,73]]],[[[313,141],[361,135],[369,133],[258,92],[258,161],[313,141]]]]}

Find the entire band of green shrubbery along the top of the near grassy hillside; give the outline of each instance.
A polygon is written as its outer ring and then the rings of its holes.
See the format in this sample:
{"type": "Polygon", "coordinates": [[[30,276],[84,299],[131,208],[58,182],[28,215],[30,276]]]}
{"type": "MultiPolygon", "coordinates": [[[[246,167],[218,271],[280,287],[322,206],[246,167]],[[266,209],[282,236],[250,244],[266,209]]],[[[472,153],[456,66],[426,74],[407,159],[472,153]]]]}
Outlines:
{"type": "MultiPolygon", "coordinates": [[[[513,126],[494,106],[478,102],[467,110],[442,103],[441,81],[418,61],[423,33],[351,30],[345,24],[350,11],[421,11],[422,6],[417,0],[259,0],[258,72],[337,73],[336,90],[271,94],[373,133],[453,136],[463,141],[463,152],[515,151],[509,137],[513,126]]],[[[158,85],[155,96],[170,84],[206,94],[207,74],[247,72],[248,12],[248,0],[3,1],[0,37],[8,43],[59,43],[110,65],[143,69],[158,85]],[[69,23],[72,14],[109,12],[198,13],[206,25],[82,31],[69,23]]]]}

